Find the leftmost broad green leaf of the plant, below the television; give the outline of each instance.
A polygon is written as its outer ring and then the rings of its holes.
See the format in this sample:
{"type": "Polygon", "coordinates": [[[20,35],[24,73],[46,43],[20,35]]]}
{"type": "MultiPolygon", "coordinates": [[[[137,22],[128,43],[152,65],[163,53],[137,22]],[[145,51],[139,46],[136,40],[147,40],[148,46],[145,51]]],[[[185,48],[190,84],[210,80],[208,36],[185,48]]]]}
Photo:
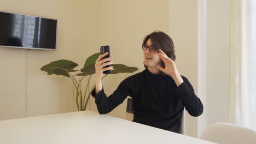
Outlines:
{"type": "Polygon", "coordinates": [[[68,61],[66,59],[60,59],[58,61],[54,61],[44,65],[41,68],[41,70],[46,71],[48,75],[55,74],[55,75],[63,75],[63,76],[70,77],[68,73],[71,71],[77,71],[77,70],[74,70],[74,68],[77,66],[78,66],[77,63],[68,61]]]}

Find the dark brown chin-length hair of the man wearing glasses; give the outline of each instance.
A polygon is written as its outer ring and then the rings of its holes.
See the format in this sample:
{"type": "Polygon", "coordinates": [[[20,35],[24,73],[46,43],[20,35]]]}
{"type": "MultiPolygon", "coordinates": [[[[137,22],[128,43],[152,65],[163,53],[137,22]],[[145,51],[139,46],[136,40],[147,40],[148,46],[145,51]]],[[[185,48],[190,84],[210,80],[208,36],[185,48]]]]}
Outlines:
{"type": "MultiPolygon", "coordinates": [[[[172,61],[175,61],[176,56],[174,53],[174,44],[169,35],[161,31],[155,31],[144,38],[143,44],[147,44],[148,39],[151,40],[152,45],[157,51],[161,49],[168,57],[172,59],[172,61]]],[[[148,69],[146,65],[144,65],[144,67],[148,69]]],[[[165,68],[164,62],[162,62],[161,67],[165,68]]]]}

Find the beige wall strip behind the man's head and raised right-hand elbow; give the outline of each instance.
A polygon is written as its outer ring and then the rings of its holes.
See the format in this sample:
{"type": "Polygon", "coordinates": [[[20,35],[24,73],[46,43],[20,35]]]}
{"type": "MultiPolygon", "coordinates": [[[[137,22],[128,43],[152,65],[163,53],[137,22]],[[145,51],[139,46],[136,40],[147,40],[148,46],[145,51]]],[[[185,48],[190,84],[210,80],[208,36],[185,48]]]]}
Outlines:
{"type": "MultiPolygon", "coordinates": [[[[176,50],[176,65],[197,94],[197,0],[170,0],[169,35],[176,50]]],[[[197,136],[197,117],[186,112],[186,134],[197,136]]]]}

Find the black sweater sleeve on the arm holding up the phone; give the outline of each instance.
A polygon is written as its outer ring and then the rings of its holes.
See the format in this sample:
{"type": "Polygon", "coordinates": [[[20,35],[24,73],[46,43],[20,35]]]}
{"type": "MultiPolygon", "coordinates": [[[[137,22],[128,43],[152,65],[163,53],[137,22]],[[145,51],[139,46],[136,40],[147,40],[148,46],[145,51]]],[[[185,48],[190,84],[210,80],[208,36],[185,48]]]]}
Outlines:
{"type": "Polygon", "coordinates": [[[132,94],[130,86],[131,79],[130,77],[128,77],[120,83],[117,90],[115,90],[113,94],[109,95],[109,97],[107,97],[107,95],[104,93],[103,88],[97,94],[95,93],[94,89],[91,95],[95,98],[95,103],[97,105],[98,112],[100,114],[106,114],[115,109],[115,107],[117,107],[121,103],[123,103],[126,97],[128,95],[131,96],[132,94]]]}

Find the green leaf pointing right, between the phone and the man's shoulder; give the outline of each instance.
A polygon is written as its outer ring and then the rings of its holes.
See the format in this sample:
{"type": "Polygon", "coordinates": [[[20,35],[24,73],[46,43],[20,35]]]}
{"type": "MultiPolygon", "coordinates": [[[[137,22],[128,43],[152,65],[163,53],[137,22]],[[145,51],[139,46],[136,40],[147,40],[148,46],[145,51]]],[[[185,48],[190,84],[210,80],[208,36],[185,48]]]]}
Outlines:
{"type": "Polygon", "coordinates": [[[118,73],[133,73],[138,70],[136,67],[127,67],[124,64],[112,64],[113,70],[110,74],[118,74],[118,73]]]}

